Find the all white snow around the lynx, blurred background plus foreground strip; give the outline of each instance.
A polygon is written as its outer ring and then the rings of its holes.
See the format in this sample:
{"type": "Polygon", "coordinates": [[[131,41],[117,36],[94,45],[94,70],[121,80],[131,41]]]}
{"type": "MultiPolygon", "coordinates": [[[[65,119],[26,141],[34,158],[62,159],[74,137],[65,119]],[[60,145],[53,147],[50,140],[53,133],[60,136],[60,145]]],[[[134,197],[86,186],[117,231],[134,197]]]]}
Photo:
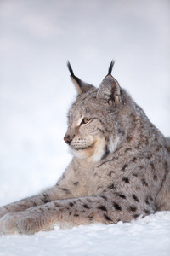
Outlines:
{"type": "MultiPolygon", "coordinates": [[[[113,75],[170,135],[170,3],[166,0],[1,0],[0,205],[56,182],[71,160],[63,141],[75,74],[99,86],[113,75]]],[[[129,224],[93,224],[1,236],[3,255],[169,255],[170,212],[129,224]]]]}

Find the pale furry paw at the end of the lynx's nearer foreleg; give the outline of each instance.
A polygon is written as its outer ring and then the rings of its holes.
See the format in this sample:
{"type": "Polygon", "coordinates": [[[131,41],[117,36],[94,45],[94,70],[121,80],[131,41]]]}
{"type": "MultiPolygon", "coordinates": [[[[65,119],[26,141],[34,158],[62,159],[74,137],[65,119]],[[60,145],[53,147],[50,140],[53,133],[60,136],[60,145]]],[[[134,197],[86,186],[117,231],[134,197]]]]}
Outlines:
{"type": "Polygon", "coordinates": [[[8,213],[0,219],[0,233],[4,235],[19,233],[31,235],[37,232],[37,222],[33,217],[8,213]]]}

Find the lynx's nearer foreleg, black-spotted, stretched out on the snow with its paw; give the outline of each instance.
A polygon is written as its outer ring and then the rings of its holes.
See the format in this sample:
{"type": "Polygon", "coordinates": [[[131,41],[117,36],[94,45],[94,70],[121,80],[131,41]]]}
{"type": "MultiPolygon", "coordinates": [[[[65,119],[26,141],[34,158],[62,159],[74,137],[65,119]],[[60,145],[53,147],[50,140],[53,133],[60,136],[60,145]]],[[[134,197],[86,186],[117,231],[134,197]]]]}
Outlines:
{"type": "Polygon", "coordinates": [[[55,224],[61,228],[93,223],[116,224],[119,220],[131,221],[140,214],[146,215],[137,204],[129,207],[123,198],[117,201],[116,195],[111,199],[106,195],[96,195],[52,201],[25,212],[7,214],[0,220],[0,231],[4,234],[34,234],[51,230],[55,224]]]}

